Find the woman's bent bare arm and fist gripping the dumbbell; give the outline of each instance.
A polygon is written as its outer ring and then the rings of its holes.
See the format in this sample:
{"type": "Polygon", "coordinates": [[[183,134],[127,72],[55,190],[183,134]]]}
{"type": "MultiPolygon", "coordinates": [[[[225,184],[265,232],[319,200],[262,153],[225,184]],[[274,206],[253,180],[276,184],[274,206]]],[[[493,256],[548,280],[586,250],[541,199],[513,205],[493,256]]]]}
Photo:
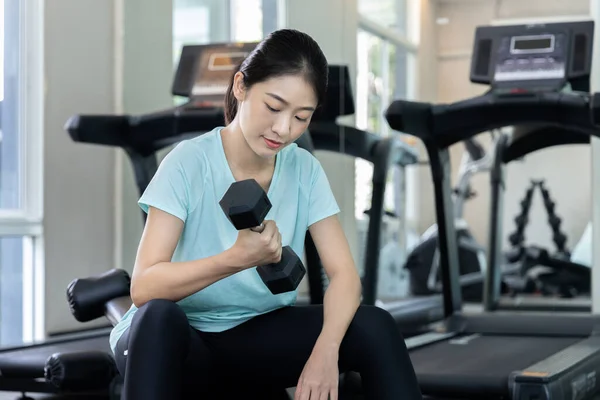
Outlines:
{"type": "Polygon", "coordinates": [[[179,301],[246,268],[281,257],[281,236],[274,223],[266,223],[262,234],[240,231],[236,244],[222,253],[172,262],[183,225],[181,219],[149,207],[131,277],[136,307],[152,299],[179,301]]]}

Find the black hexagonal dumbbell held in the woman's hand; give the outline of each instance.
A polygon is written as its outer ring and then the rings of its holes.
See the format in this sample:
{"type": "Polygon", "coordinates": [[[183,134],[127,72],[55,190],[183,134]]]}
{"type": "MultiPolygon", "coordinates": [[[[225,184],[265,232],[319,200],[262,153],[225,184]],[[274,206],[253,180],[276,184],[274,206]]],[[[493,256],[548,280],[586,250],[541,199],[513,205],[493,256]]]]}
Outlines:
{"type": "MultiPolygon", "coordinates": [[[[272,206],[254,179],[232,183],[219,204],[237,230],[260,227],[272,206]]],[[[283,247],[278,263],[259,265],[257,271],[273,294],[296,290],[306,273],[302,260],[290,246],[283,247]]]]}

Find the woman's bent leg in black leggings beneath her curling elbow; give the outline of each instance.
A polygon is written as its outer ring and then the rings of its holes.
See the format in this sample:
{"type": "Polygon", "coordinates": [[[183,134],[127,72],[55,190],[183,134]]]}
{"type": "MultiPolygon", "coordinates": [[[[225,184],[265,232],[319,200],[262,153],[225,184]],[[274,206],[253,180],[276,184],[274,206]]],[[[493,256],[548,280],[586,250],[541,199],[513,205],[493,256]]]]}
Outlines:
{"type": "Polygon", "coordinates": [[[132,398],[209,392],[214,381],[207,344],[180,308],[165,300],[138,310],[117,342],[115,362],[132,398]]]}

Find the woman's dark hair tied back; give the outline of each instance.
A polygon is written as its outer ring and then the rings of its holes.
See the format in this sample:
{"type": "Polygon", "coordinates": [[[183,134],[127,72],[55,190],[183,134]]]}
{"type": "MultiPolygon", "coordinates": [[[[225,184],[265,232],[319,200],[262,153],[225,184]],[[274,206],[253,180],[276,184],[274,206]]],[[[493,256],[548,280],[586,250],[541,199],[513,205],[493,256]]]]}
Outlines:
{"type": "Polygon", "coordinates": [[[328,65],[317,42],[295,29],[280,29],[265,37],[233,72],[225,94],[225,123],[237,114],[237,99],[233,94],[233,77],[244,74],[244,86],[282,75],[302,74],[313,86],[317,106],[323,104],[327,92],[328,65]]]}

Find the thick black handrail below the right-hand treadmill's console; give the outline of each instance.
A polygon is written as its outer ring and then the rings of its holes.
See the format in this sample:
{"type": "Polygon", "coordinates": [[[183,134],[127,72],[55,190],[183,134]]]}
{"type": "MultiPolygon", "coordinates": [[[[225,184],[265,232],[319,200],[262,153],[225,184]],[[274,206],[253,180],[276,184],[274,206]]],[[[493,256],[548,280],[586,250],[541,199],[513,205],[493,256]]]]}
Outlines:
{"type": "Polygon", "coordinates": [[[395,100],[385,116],[392,129],[446,148],[488,130],[530,123],[578,128],[598,136],[590,101],[589,93],[488,92],[451,104],[395,100]]]}

